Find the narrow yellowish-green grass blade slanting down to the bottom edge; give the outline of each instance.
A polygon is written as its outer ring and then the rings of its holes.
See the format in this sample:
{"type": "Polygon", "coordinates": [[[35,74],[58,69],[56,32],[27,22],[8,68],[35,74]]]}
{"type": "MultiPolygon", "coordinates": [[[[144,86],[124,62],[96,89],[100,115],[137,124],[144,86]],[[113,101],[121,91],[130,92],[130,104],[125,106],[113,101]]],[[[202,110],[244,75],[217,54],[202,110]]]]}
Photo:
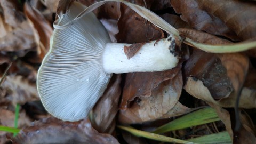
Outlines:
{"type": "Polygon", "coordinates": [[[185,141],[185,140],[174,139],[174,138],[166,137],[164,135],[159,135],[159,134],[155,134],[155,133],[140,131],[137,129],[133,129],[131,127],[125,127],[125,126],[117,126],[117,127],[119,127],[119,129],[130,132],[137,137],[144,137],[144,138],[162,141],[162,142],[189,143],[189,144],[195,143],[195,142],[189,142],[189,141],[185,141]]]}

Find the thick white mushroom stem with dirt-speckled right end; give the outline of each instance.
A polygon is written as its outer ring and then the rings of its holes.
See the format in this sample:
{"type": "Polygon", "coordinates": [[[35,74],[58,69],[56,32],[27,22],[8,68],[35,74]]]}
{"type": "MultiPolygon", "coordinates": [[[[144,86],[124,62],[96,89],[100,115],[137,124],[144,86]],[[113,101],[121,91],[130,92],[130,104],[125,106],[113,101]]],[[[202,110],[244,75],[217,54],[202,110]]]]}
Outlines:
{"type": "Polygon", "coordinates": [[[130,59],[127,59],[124,46],[131,44],[107,43],[103,52],[103,70],[106,73],[129,73],[163,71],[177,66],[179,59],[172,53],[171,36],[160,41],[144,44],[130,59]]]}

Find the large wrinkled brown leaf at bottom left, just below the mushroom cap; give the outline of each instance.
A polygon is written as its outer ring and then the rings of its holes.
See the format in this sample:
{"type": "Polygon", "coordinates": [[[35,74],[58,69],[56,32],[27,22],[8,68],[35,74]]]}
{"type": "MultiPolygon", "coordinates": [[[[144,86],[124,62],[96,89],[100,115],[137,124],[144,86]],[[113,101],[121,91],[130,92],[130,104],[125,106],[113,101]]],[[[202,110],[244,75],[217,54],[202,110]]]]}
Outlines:
{"type": "Polygon", "coordinates": [[[97,132],[90,121],[63,122],[56,118],[36,121],[22,129],[13,143],[118,143],[109,134],[97,132]]]}

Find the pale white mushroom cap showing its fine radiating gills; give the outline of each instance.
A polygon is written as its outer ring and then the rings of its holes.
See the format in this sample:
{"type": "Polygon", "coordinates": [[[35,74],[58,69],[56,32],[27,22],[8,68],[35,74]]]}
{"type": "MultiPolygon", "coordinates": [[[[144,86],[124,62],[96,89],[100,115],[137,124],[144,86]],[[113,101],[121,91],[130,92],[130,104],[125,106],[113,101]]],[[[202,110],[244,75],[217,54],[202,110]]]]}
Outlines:
{"type": "MultiPolygon", "coordinates": [[[[75,19],[84,9],[74,2],[59,25],[75,19]]],[[[106,29],[93,13],[66,29],[53,31],[50,51],[37,77],[39,95],[50,114],[65,121],[87,117],[111,77],[102,68],[102,53],[108,42],[106,29]]]]}

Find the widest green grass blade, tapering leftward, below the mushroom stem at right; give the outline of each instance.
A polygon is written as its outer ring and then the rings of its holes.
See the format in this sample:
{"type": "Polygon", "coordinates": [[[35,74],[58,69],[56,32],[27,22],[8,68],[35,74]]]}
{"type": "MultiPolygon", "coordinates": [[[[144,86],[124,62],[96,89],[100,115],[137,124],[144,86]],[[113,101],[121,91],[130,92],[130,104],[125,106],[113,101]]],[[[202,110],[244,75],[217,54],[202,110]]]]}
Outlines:
{"type": "Polygon", "coordinates": [[[180,118],[174,119],[170,123],[158,127],[154,131],[154,133],[164,133],[174,130],[180,130],[187,127],[211,123],[219,120],[220,118],[218,117],[215,110],[211,107],[207,107],[194,111],[180,118]]]}

